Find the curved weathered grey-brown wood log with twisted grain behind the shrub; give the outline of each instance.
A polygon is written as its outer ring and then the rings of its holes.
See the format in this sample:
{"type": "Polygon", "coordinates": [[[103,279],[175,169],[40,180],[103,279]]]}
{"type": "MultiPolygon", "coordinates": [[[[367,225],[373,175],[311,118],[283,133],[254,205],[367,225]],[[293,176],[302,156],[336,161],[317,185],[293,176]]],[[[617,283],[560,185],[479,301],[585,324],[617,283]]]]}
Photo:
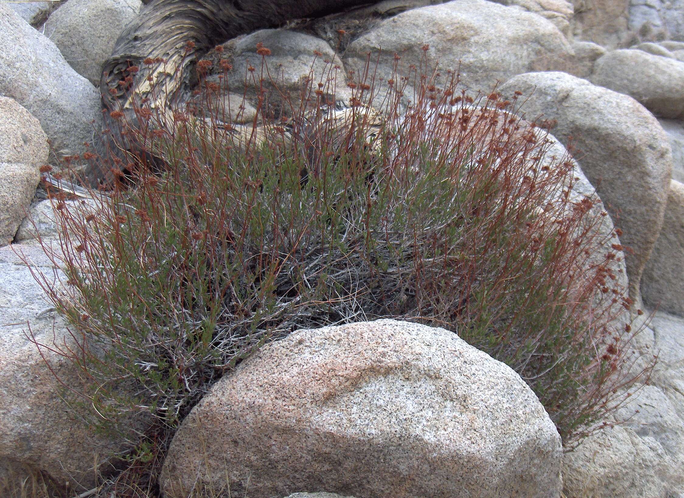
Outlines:
{"type": "MultiPolygon", "coordinates": [[[[364,3],[369,2],[153,0],[127,26],[103,65],[105,128],[117,128],[109,117],[112,111],[122,111],[126,120],[134,121],[133,109],[144,99],[159,113],[162,125],[170,124],[173,109],[189,95],[198,59],[216,44],[287,20],[323,16],[364,3]],[[140,70],[131,70],[133,66],[140,70]]],[[[106,171],[89,171],[88,180],[93,183],[106,175],[106,171]]]]}

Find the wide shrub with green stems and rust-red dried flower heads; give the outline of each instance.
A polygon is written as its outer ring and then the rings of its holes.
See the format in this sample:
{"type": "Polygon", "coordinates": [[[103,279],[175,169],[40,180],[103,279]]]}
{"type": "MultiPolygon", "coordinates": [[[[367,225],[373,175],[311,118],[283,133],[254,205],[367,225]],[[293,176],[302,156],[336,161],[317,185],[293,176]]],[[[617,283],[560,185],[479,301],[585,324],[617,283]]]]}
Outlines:
{"type": "Polygon", "coordinates": [[[453,72],[422,72],[376,81],[367,67],[346,108],[311,80],[290,115],[264,90],[263,126],[231,124],[211,99],[171,121],[145,104],[111,113],[135,154],[110,158],[96,208],[53,195],[68,279],[44,280],[99,424],[151,413],[172,430],[263,344],[381,317],[445,327],[510,365],[568,447],[606,424],[653,364],[629,373],[632,303],[605,212],[573,197],[572,161],[549,161],[517,97],[473,100],[453,72]]]}

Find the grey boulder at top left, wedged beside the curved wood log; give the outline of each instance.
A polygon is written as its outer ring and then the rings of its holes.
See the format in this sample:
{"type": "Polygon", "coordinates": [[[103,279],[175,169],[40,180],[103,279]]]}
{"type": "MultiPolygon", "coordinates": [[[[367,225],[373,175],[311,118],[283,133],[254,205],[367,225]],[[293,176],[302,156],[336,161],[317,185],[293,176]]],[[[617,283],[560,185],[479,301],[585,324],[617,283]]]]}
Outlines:
{"type": "Polygon", "coordinates": [[[76,72],[98,85],[103,62],[140,8],[140,0],[69,0],[50,15],[42,32],[76,72]]]}

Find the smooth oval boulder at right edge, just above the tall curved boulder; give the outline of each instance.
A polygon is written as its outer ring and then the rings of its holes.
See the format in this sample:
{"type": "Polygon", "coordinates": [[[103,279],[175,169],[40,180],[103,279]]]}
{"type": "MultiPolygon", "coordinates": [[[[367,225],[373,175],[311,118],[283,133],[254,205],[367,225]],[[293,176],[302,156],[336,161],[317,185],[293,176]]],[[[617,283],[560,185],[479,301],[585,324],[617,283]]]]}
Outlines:
{"type": "Polygon", "coordinates": [[[684,62],[642,50],[616,50],[594,63],[594,85],[629,95],[660,117],[684,117],[684,62]]]}

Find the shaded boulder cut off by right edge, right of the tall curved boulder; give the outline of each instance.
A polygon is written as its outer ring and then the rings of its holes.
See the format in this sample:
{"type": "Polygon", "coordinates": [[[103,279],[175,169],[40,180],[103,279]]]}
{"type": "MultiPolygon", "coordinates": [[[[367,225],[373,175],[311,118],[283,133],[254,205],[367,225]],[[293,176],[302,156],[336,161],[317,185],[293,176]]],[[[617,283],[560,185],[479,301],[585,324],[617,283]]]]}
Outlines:
{"type": "Polygon", "coordinates": [[[670,182],[663,228],[642,277],[649,307],[684,316],[684,184],[670,182]]]}

